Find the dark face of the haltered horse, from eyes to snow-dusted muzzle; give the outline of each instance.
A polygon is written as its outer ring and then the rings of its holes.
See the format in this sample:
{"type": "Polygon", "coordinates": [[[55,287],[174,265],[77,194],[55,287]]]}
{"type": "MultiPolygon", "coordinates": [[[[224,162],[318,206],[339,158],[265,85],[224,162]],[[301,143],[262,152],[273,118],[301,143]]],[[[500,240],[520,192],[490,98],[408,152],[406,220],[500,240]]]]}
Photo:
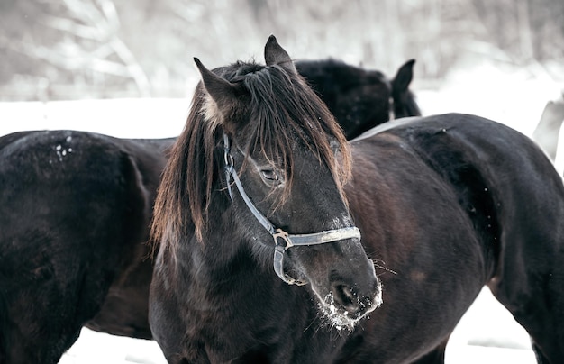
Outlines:
{"type": "MultiPolygon", "coordinates": [[[[294,141],[292,150],[296,172],[289,187],[285,166],[260,153],[247,157],[241,182],[254,204],[271,223],[290,234],[353,226],[330,168],[300,141],[294,141]]],[[[241,208],[247,209],[244,205],[241,208]]],[[[256,226],[250,232],[250,241],[262,242],[260,247],[254,243],[254,248],[273,246],[272,237],[249,219],[254,219],[252,214],[243,222],[247,229],[256,226]]],[[[381,287],[373,262],[358,238],[292,247],[287,250],[284,263],[290,277],[309,284],[326,323],[333,327],[351,329],[381,303],[381,287]]]]}

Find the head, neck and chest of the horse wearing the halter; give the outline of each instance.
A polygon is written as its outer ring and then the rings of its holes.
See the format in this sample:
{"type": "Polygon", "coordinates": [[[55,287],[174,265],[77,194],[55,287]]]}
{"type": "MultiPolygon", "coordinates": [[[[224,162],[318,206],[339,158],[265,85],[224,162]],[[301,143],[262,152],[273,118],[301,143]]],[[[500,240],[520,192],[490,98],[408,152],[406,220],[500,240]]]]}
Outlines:
{"type": "Polygon", "coordinates": [[[350,329],[380,303],[343,198],[341,128],[274,37],[265,58],[268,68],[215,70],[229,81],[195,59],[203,85],[163,173],[152,229],[150,325],[170,362],[284,362],[297,337],[305,352],[330,350],[323,334],[304,331],[317,319],[308,305],[350,329]]]}

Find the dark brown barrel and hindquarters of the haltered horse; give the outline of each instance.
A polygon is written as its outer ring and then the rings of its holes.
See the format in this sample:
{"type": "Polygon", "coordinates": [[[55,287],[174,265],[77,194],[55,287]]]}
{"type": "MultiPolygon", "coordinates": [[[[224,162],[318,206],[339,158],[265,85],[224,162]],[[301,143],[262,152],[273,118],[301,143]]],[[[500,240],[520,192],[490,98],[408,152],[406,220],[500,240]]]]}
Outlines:
{"type": "Polygon", "coordinates": [[[528,138],[476,116],[386,129],[352,141],[351,214],[368,255],[395,273],[379,276],[384,302],[355,333],[366,344],[350,361],[443,354],[441,341],[487,285],[537,355],[557,362],[564,190],[550,161],[528,138]]]}

